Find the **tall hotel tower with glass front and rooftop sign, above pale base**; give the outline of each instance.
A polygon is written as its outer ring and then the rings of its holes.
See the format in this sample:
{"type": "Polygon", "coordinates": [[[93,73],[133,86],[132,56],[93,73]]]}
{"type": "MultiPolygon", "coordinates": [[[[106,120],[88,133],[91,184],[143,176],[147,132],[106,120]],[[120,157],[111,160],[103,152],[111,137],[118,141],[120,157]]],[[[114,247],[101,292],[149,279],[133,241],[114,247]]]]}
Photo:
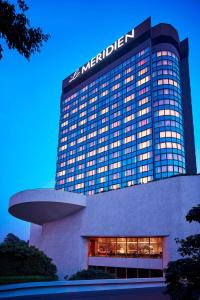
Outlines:
{"type": "Polygon", "coordinates": [[[63,81],[56,189],[195,174],[188,40],[150,18],[63,81]]]}

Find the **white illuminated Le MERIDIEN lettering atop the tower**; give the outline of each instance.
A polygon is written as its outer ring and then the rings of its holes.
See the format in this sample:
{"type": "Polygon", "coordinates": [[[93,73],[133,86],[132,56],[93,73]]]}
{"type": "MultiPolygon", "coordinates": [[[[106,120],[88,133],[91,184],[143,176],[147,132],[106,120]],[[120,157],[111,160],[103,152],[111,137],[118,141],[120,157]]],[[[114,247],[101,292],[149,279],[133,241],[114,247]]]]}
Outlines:
{"type": "Polygon", "coordinates": [[[79,68],[76,72],[74,72],[69,79],[69,83],[74,81],[77,77],[84,74],[85,72],[89,71],[91,68],[96,66],[100,61],[103,61],[105,58],[110,56],[112,53],[117,51],[119,48],[124,46],[126,43],[129,42],[130,39],[133,39],[135,36],[134,29],[132,29],[130,32],[119,38],[116,42],[114,42],[112,45],[108,46],[105,50],[103,50],[101,53],[97,54],[97,56],[93,57],[88,63],[83,65],[81,68],[79,68]]]}

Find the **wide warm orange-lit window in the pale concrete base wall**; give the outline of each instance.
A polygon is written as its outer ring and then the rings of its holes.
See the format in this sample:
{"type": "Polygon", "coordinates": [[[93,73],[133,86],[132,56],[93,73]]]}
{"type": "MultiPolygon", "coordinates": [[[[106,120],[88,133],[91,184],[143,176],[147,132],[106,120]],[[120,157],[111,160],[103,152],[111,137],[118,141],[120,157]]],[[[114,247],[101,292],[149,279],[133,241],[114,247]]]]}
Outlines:
{"type": "Polygon", "coordinates": [[[89,238],[89,256],[162,258],[162,237],[89,238]]]}

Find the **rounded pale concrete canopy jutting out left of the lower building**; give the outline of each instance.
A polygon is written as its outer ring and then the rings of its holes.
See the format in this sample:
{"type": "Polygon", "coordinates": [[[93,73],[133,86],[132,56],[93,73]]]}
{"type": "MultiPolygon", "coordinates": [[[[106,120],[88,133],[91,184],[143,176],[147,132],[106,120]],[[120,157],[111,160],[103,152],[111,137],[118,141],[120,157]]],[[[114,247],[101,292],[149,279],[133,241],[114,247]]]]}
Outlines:
{"type": "Polygon", "coordinates": [[[42,225],[73,214],[86,206],[86,196],[53,189],[26,190],[10,198],[9,212],[42,225]]]}

